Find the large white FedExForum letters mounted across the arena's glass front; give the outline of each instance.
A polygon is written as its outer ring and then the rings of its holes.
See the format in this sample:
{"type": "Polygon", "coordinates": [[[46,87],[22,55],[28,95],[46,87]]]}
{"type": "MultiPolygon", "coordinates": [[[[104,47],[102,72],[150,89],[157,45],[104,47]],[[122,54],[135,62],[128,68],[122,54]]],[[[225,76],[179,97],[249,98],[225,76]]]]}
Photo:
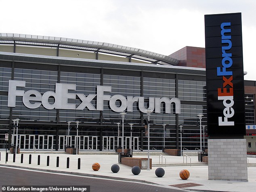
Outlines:
{"type": "MultiPolygon", "coordinates": [[[[76,90],[76,84],[56,83],[55,92],[48,91],[44,94],[36,90],[17,90],[25,87],[25,81],[9,80],[8,91],[8,107],[16,106],[16,96],[23,97],[23,104],[29,109],[36,109],[41,104],[46,109],[73,109],[83,110],[87,107],[91,111],[103,111],[103,102],[109,101],[109,107],[115,112],[122,112],[127,109],[127,112],[133,111],[134,102],[138,103],[138,108],[141,112],[147,113],[145,108],[144,97],[127,96],[127,99],[122,95],[113,95],[112,97],[105,92],[111,92],[111,86],[97,86],[97,94],[84,94],[70,93],[69,90],[76,90]],[[68,100],[80,98],[81,104],[76,108],[75,103],[69,103],[68,100]],[[97,98],[97,108],[92,105],[92,100],[97,98]],[[54,98],[54,102],[49,102],[49,98],[54,98]],[[118,106],[116,104],[118,102],[118,106]]],[[[155,109],[155,113],[160,113],[161,103],[165,104],[165,113],[171,113],[171,104],[175,105],[175,113],[180,113],[180,100],[178,98],[149,98],[149,107],[151,111],[155,109]]]]}

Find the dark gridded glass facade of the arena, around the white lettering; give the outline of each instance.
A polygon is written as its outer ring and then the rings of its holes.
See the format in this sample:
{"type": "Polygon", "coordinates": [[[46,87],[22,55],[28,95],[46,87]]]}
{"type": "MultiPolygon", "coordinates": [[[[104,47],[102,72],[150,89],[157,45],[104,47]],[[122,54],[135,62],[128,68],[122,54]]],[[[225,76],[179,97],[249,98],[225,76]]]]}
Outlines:
{"type": "MultiPolygon", "coordinates": [[[[109,101],[104,100],[103,111],[84,109],[45,109],[42,104],[36,109],[28,109],[23,104],[21,96],[16,96],[16,106],[10,110],[8,102],[8,81],[10,79],[26,81],[25,87],[18,90],[36,90],[40,94],[47,91],[55,92],[56,83],[76,84],[76,93],[88,97],[97,94],[97,86],[111,86],[111,92],[106,95],[122,95],[132,97],[144,97],[144,107],[149,107],[149,98],[174,98],[181,102],[181,113],[175,114],[174,104],[171,104],[171,113],[165,113],[165,104],[162,102],[160,113],[153,111],[150,114],[150,150],[162,150],[163,147],[180,149],[180,134],[182,135],[182,146],[194,150],[200,146],[200,121],[199,114],[204,115],[201,119],[202,134],[207,136],[207,114],[206,114],[206,82],[198,77],[198,80],[187,80],[188,77],[170,76],[170,78],[155,77],[155,73],[147,75],[134,75],[127,71],[126,75],[117,75],[108,71],[100,73],[99,70],[90,68],[90,72],[72,69],[57,70],[56,67],[40,69],[40,64],[35,67],[22,68],[15,65],[14,68],[0,68],[0,148],[4,148],[4,134],[13,133],[12,119],[19,121],[19,144],[25,150],[64,150],[65,145],[75,144],[78,140],[81,150],[114,150],[121,146],[122,116],[119,112],[110,109],[109,101]],[[11,119],[10,119],[11,115],[11,119]],[[67,121],[71,121],[68,127],[67,121]],[[78,137],[76,136],[76,121],[79,121],[78,137]],[[118,123],[119,130],[118,130],[118,123]],[[180,132],[182,126],[182,133],[180,132]],[[164,129],[165,127],[165,129],[164,129]],[[178,136],[178,137],[177,137],[178,136]],[[69,140],[69,143],[67,143],[69,140]],[[2,145],[1,145],[2,144],[2,145]],[[111,145],[109,147],[109,145],[111,145]]],[[[159,75],[161,76],[161,75],[159,75]]],[[[195,78],[195,76],[193,76],[195,78]]],[[[197,78],[195,78],[197,79],[197,78]]],[[[254,124],[254,95],[246,94],[246,124],[254,124]]],[[[55,98],[48,99],[50,104],[55,98]]],[[[80,106],[82,100],[69,99],[69,103],[80,106]]],[[[97,109],[97,96],[90,101],[97,109]]],[[[120,100],[115,102],[117,107],[121,106],[120,100]]],[[[129,148],[130,136],[132,134],[132,145],[134,150],[147,149],[147,137],[144,136],[143,118],[147,117],[138,109],[138,102],[133,103],[132,112],[126,112],[124,117],[124,145],[129,148]],[[133,124],[132,132],[130,124],[133,124]]],[[[207,145],[207,144],[205,144],[207,145]]]]}

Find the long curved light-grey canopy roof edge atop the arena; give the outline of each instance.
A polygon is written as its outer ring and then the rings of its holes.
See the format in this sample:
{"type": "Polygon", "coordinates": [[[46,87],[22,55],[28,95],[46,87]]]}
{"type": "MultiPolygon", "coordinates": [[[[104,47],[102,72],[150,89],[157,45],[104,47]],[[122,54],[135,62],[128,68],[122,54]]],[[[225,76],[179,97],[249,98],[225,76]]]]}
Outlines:
{"type": "Polygon", "coordinates": [[[16,33],[0,33],[0,44],[46,46],[86,50],[91,52],[101,52],[106,54],[125,56],[160,65],[177,65],[179,63],[179,60],[170,56],[157,54],[138,48],[70,38],[24,35],[16,33]]]}

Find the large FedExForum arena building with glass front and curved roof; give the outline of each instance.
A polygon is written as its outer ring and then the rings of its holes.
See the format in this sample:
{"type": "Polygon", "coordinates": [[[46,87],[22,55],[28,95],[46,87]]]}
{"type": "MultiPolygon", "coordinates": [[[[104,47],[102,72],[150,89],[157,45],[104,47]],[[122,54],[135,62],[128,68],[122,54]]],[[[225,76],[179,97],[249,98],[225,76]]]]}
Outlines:
{"type": "MultiPolygon", "coordinates": [[[[256,84],[244,84],[246,125],[252,127],[248,151],[256,151],[256,84]]],[[[17,142],[21,150],[64,150],[76,142],[82,151],[115,150],[122,146],[123,125],[124,148],[145,150],[147,117],[150,150],[207,147],[204,48],[165,56],[102,42],[0,33],[0,148],[8,133],[9,146],[17,142]]]]}

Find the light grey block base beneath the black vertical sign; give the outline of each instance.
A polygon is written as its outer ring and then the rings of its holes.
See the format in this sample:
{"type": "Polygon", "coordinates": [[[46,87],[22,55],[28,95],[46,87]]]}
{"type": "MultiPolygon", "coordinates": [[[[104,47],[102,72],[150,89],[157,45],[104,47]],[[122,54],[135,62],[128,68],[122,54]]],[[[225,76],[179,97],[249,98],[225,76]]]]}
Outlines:
{"type": "Polygon", "coordinates": [[[248,182],[246,139],[208,139],[208,179],[248,182]]]}

